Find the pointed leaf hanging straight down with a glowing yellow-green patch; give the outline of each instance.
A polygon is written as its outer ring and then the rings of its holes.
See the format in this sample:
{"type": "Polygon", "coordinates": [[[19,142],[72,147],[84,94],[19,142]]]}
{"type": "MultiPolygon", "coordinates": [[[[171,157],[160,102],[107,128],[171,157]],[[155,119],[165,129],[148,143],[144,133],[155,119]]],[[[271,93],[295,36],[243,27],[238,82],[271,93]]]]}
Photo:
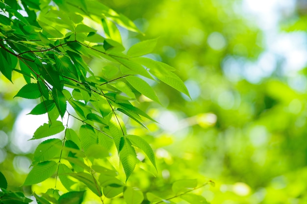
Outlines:
{"type": "Polygon", "coordinates": [[[127,181],[135,168],[137,158],[131,142],[126,137],[121,138],[119,156],[125,170],[127,181]]]}

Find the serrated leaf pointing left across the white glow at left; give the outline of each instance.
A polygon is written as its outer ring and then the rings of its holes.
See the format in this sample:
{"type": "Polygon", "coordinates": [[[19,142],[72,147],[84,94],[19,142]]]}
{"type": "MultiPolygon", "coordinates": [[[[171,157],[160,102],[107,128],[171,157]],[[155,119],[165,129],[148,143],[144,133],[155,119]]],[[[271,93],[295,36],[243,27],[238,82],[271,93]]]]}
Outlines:
{"type": "Polygon", "coordinates": [[[63,123],[61,121],[55,120],[51,124],[44,123],[40,126],[34,133],[32,139],[40,139],[47,136],[53,136],[64,130],[63,123]]]}

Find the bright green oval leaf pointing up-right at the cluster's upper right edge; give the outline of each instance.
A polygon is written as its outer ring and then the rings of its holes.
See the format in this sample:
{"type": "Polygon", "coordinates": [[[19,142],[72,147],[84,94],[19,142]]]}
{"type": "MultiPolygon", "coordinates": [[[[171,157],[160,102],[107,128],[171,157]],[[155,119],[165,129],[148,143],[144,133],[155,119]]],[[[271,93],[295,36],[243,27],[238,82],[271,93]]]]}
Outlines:
{"type": "Polygon", "coordinates": [[[149,54],[153,51],[157,44],[157,39],[141,41],[135,45],[132,45],[128,50],[127,54],[131,57],[138,57],[149,54]]]}

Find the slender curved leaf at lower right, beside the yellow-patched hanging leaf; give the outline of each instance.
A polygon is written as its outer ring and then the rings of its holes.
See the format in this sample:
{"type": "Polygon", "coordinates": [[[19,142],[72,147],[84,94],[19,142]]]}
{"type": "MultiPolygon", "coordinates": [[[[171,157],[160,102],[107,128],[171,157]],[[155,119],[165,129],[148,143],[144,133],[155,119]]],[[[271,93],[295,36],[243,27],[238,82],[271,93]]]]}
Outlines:
{"type": "Polygon", "coordinates": [[[157,167],[155,164],[153,149],[148,144],[148,142],[140,136],[128,135],[127,138],[132,143],[132,145],[140,148],[147,155],[148,159],[152,162],[154,168],[156,169],[157,167]]]}

